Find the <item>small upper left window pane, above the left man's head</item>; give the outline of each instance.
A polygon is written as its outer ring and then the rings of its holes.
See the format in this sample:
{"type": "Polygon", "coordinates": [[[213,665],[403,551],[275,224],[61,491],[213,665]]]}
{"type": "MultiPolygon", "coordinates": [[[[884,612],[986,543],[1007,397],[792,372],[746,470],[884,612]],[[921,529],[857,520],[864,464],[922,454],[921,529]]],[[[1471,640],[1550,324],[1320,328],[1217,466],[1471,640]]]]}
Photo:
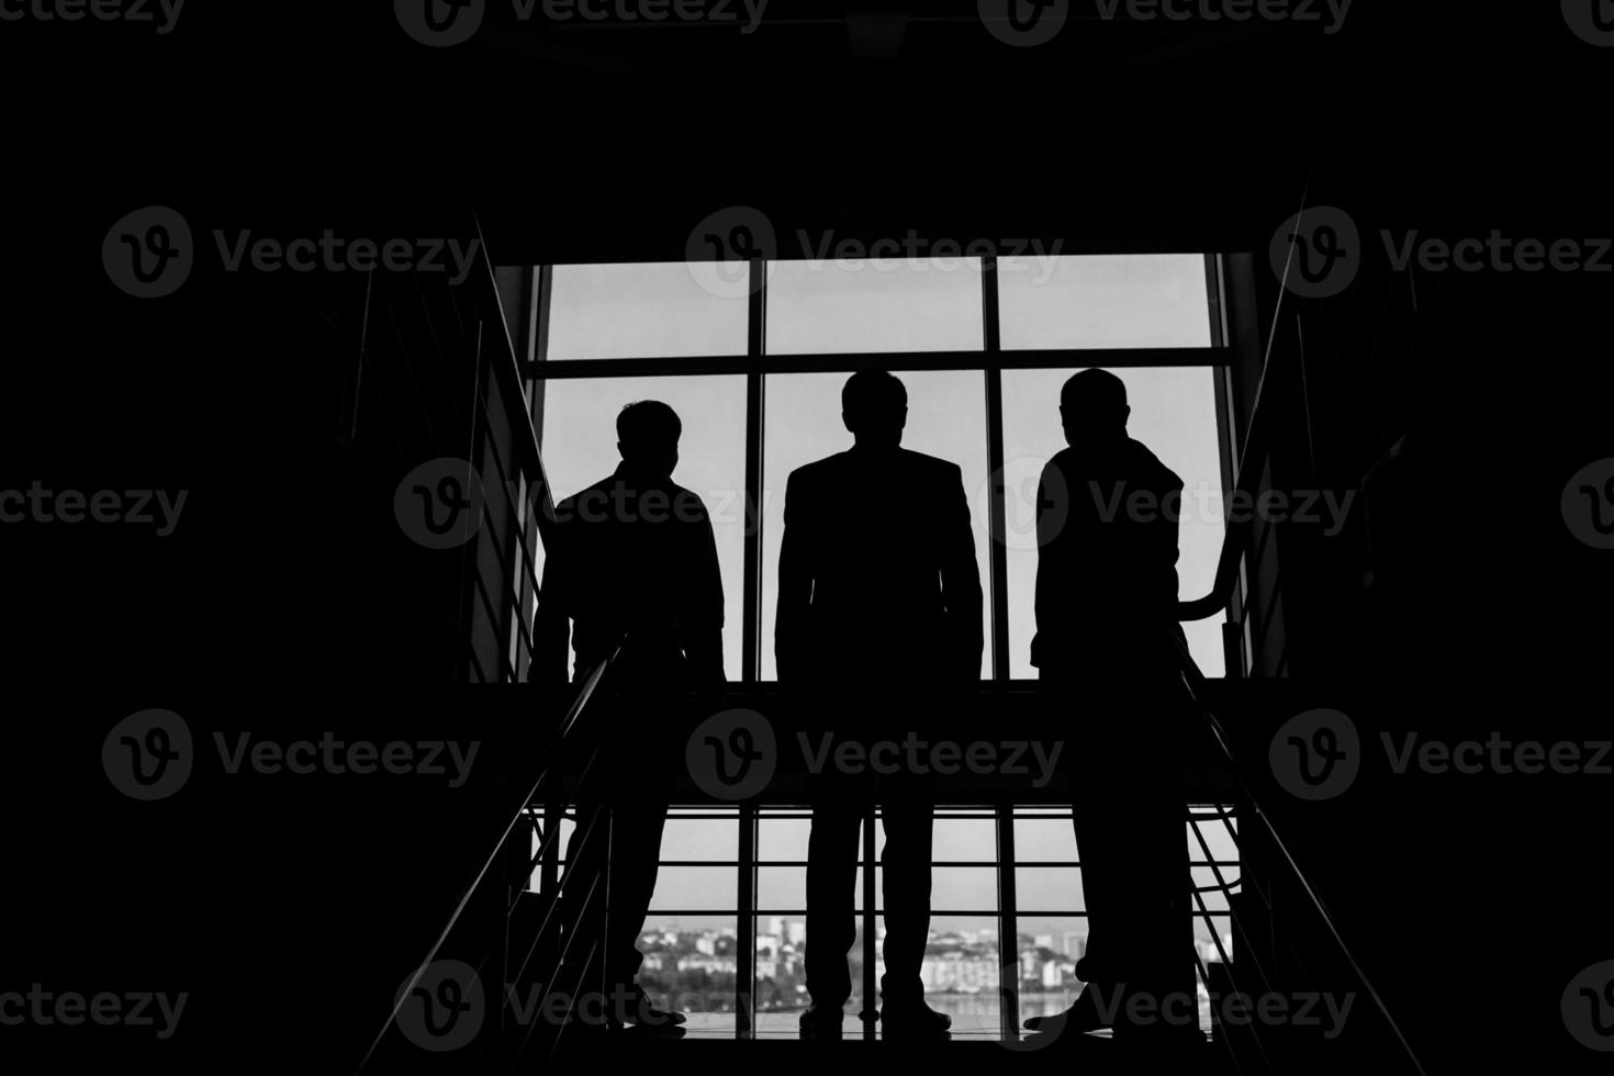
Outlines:
{"type": "Polygon", "coordinates": [[[749,298],[736,292],[702,287],[683,261],[557,265],[547,357],[744,355],[749,298]]]}

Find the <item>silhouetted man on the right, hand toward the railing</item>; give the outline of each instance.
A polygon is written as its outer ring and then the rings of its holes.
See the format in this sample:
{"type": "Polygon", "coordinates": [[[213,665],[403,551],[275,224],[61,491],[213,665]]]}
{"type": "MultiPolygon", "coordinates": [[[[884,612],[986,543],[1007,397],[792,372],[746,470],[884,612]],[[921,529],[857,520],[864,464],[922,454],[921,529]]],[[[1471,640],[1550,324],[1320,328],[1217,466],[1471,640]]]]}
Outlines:
{"type": "Polygon", "coordinates": [[[1070,729],[1088,986],[1072,1010],[1027,1026],[1086,1031],[1114,1011],[1117,1036],[1198,1028],[1173,647],[1183,482],[1127,436],[1115,374],[1070,377],[1059,415],[1070,447],[1038,489],[1031,663],[1051,719],[1070,729]],[[1128,1024],[1133,994],[1164,1015],[1128,1024]]]}

